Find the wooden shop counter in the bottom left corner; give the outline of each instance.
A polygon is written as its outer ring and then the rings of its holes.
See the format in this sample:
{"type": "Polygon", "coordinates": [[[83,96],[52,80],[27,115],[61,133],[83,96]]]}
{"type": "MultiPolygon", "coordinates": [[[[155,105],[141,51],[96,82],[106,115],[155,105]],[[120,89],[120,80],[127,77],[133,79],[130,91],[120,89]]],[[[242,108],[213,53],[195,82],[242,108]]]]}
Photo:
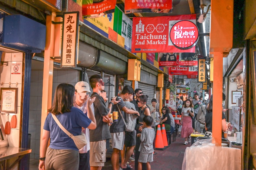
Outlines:
{"type": "Polygon", "coordinates": [[[30,153],[31,149],[3,147],[0,148],[0,162],[4,162],[4,169],[12,169],[26,154],[30,153]],[[7,160],[11,161],[7,162],[7,160]]]}

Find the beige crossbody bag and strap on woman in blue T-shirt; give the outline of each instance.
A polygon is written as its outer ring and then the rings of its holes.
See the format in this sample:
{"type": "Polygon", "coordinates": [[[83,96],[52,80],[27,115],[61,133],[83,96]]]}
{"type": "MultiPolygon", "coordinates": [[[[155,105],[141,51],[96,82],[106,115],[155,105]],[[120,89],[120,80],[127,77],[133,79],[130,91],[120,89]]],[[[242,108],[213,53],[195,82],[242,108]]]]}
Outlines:
{"type": "Polygon", "coordinates": [[[67,129],[65,129],[61,123],[59,122],[59,120],[57,119],[57,117],[54,114],[51,114],[51,116],[53,117],[53,119],[55,120],[55,122],[57,123],[57,125],[61,128],[61,130],[63,130],[63,132],[65,132],[71,139],[73,139],[73,141],[75,142],[75,145],[78,149],[83,148],[85,145],[87,145],[87,140],[85,138],[85,134],[83,132],[81,132],[80,135],[74,136],[73,134],[69,133],[67,131],[67,129]]]}

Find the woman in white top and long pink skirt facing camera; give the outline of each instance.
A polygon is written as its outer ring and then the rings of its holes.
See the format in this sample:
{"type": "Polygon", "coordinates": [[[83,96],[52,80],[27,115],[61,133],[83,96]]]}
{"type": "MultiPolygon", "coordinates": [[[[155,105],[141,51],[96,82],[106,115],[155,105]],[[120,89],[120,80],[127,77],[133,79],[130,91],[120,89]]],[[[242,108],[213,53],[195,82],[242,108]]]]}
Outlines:
{"type": "Polygon", "coordinates": [[[182,125],[181,129],[181,137],[185,138],[184,145],[187,145],[191,140],[189,135],[193,133],[192,127],[192,117],[194,116],[194,108],[193,104],[190,100],[185,101],[185,105],[182,108],[181,112],[181,120],[180,125],[182,125]]]}

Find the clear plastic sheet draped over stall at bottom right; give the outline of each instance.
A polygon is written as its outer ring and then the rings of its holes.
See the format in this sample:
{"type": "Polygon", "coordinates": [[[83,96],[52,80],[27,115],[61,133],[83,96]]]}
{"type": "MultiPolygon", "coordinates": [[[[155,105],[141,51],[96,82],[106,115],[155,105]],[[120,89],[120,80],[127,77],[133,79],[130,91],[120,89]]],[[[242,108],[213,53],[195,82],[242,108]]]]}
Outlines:
{"type": "Polygon", "coordinates": [[[211,139],[202,139],[185,150],[182,170],[241,170],[241,149],[216,146],[211,139]]]}

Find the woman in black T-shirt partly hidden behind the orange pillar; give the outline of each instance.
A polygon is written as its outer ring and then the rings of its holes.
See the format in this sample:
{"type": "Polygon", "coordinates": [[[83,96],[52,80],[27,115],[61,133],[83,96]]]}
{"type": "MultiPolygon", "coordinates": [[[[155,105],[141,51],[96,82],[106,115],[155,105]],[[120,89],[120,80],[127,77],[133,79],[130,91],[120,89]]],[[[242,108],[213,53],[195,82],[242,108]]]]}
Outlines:
{"type": "MultiPolygon", "coordinates": [[[[212,132],[212,101],[213,95],[210,97],[210,101],[206,107],[206,114],[205,114],[205,130],[212,132]]],[[[226,116],[224,112],[222,112],[222,121],[221,121],[221,129],[222,129],[222,138],[224,138],[224,133],[228,130],[231,126],[230,123],[226,124],[226,116]]]]}

